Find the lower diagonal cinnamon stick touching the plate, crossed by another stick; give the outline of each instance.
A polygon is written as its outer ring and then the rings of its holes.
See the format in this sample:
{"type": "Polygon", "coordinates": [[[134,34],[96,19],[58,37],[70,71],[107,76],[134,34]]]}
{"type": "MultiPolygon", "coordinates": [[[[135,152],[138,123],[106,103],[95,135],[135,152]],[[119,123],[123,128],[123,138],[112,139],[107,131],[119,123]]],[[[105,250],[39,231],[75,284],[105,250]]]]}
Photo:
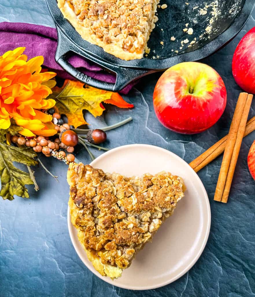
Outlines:
{"type": "MultiPolygon", "coordinates": [[[[255,130],[255,116],[252,117],[246,124],[245,131],[243,137],[247,136],[251,132],[255,130]]],[[[190,167],[193,168],[195,172],[198,172],[214,159],[219,157],[220,154],[224,152],[226,147],[228,135],[224,136],[218,142],[216,142],[213,146],[211,146],[208,150],[203,152],[200,156],[190,162],[190,167]]]]}

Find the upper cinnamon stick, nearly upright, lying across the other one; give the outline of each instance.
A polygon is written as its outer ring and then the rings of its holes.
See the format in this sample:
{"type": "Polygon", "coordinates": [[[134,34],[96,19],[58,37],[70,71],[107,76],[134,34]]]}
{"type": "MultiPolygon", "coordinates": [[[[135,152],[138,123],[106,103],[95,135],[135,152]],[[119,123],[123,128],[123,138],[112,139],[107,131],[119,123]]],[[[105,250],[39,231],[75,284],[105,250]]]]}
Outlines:
{"type": "Polygon", "coordinates": [[[252,95],[240,93],[223,155],[214,200],[226,203],[245,131],[252,95]],[[228,174],[229,173],[229,174],[228,174]],[[225,192],[224,192],[225,190],[225,192]],[[224,195],[223,195],[224,193],[224,195]],[[223,198],[223,199],[222,199],[223,198]]]}

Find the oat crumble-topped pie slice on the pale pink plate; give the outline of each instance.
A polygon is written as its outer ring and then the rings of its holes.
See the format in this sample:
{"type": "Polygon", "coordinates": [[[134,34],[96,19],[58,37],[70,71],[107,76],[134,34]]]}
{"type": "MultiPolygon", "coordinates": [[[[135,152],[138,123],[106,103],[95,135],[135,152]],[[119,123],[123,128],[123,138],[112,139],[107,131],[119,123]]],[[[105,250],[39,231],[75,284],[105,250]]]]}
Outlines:
{"type": "Polygon", "coordinates": [[[70,215],[94,268],[121,276],[184,196],[182,178],[160,172],[141,178],[70,163],[70,215]]]}

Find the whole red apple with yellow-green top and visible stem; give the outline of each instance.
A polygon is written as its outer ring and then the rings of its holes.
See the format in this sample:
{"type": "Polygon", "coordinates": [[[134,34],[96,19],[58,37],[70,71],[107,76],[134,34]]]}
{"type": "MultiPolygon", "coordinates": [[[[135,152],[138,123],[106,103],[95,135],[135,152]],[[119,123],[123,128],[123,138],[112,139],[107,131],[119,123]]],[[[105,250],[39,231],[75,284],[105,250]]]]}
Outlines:
{"type": "Polygon", "coordinates": [[[184,134],[202,132],[219,120],[226,107],[222,78],[210,66],[184,62],[166,70],[153,93],[158,120],[184,134]]]}

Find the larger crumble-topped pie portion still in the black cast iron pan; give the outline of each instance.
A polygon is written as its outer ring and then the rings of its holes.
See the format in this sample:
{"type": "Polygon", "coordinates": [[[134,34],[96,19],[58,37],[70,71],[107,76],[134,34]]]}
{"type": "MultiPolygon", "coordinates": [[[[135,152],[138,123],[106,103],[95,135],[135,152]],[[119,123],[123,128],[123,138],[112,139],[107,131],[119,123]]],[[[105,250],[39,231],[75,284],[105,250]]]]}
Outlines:
{"type": "Polygon", "coordinates": [[[159,0],[57,0],[66,18],[86,41],[123,60],[149,53],[159,0]]]}

